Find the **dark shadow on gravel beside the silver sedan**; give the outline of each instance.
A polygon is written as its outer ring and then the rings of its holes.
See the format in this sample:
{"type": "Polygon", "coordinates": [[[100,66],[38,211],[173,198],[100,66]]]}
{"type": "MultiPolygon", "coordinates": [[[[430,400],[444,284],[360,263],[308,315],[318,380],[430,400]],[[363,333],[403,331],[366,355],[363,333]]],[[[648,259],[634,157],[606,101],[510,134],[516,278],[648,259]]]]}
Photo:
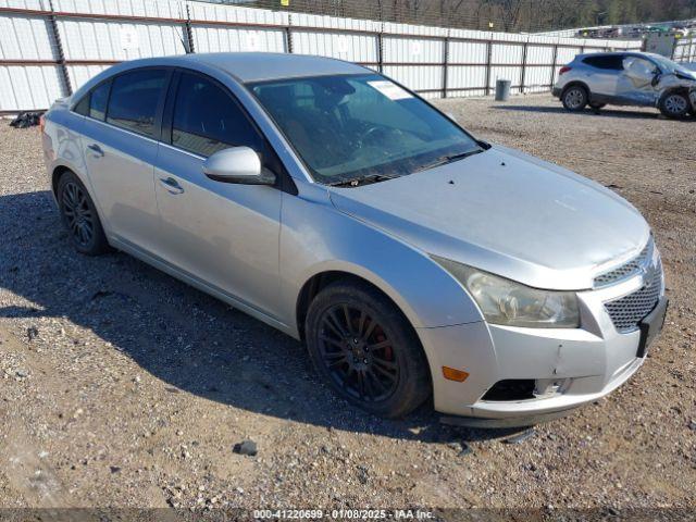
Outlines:
{"type": "Polygon", "coordinates": [[[0,196],[0,286],[26,301],[0,307],[0,318],[66,318],[161,380],[166,393],[423,442],[520,431],[446,426],[432,405],[402,420],[361,412],[320,382],[297,340],[127,254],[78,254],[49,191],[0,196]]]}

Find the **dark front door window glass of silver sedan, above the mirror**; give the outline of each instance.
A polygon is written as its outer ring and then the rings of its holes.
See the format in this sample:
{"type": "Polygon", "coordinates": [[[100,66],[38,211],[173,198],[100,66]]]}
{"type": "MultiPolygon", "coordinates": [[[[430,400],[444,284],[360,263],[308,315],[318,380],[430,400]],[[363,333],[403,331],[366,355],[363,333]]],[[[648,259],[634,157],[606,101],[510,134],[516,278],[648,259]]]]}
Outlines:
{"type": "Polygon", "coordinates": [[[231,96],[213,82],[183,73],[174,103],[172,145],[209,157],[229,147],[264,150],[263,138],[231,96]]]}

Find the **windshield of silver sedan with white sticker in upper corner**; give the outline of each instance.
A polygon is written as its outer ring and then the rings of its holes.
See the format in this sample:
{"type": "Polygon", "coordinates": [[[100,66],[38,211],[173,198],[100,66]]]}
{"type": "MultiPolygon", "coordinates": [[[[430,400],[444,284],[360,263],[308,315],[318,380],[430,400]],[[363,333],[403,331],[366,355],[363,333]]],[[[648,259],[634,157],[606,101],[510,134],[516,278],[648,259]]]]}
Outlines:
{"type": "Polygon", "coordinates": [[[248,87],[322,183],[402,176],[482,150],[449,119],[376,74],[248,87]]]}

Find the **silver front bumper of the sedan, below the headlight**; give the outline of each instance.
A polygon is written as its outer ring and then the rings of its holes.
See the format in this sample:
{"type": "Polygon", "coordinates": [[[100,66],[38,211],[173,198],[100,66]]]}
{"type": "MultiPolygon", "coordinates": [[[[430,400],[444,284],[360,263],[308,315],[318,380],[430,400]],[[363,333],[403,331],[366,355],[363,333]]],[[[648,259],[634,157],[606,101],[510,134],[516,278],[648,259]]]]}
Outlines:
{"type": "MultiPolygon", "coordinates": [[[[458,424],[530,425],[611,393],[643,364],[645,353],[639,353],[639,347],[645,333],[617,332],[604,303],[636,291],[642,284],[635,277],[580,293],[583,327],[577,330],[517,328],[485,322],[419,328],[431,364],[435,409],[469,418],[470,422],[460,419],[458,424]],[[443,366],[464,370],[469,376],[463,383],[447,381],[443,366]],[[535,388],[534,398],[484,399],[496,383],[507,380],[534,381],[544,393],[535,388]]],[[[662,306],[663,291],[657,308],[662,306]]],[[[660,328],[661,322],[652,327],[650,337],[660,328]]]]}

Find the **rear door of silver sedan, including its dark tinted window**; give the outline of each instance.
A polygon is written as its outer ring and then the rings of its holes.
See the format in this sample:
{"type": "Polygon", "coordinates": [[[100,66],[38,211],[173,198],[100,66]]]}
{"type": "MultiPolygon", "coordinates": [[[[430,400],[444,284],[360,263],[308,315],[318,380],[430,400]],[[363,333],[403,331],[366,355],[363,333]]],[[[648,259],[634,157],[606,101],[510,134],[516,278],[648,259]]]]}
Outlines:
{"type": "Polygon", "coordinates": [[[85,161],[108,233],[148,251],[159,225],[153,164],[171,74],[139,69],[97,86],[85,122],[85,161]]]}

